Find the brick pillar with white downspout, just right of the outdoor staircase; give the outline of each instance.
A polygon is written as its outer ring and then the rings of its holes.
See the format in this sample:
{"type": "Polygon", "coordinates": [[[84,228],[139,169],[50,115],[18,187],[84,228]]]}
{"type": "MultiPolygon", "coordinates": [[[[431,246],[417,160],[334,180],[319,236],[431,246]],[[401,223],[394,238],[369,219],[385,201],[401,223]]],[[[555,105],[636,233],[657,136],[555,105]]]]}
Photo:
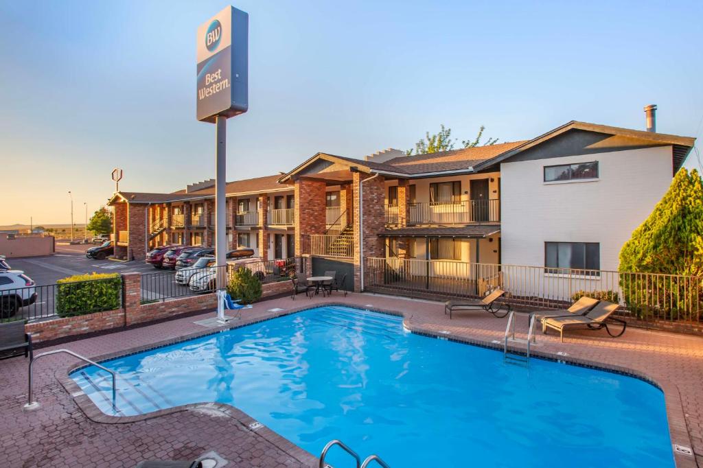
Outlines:
{"type": "Polygon", "coordinates": [[[360,188],[361,180],[369,178],[368,174],[354,172],[354,291],[361,291],[361,258],[360,246],[363,242],[363,256],[382,257],[384,255],[384,240],[378,235],[385,230],[386,215],[385,179],[377,176],[363,183],[363,193],[360,188]],[[359,230],[359,205],[363,197],[363,226],[359,230]]]}

